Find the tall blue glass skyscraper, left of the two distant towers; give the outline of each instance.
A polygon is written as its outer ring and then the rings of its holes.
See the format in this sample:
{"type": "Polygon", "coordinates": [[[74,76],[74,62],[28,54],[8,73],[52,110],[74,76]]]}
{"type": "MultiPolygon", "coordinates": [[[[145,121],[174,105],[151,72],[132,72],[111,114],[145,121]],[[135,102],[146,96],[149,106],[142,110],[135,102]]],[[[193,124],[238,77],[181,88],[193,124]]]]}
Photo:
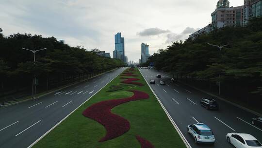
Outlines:
{"type": "Polygon", "coordinates": [[[125,62],[125,38],[121,37],[121,33],[115,35],[115,51],[113,58],[121,59],[125,62]]]}

